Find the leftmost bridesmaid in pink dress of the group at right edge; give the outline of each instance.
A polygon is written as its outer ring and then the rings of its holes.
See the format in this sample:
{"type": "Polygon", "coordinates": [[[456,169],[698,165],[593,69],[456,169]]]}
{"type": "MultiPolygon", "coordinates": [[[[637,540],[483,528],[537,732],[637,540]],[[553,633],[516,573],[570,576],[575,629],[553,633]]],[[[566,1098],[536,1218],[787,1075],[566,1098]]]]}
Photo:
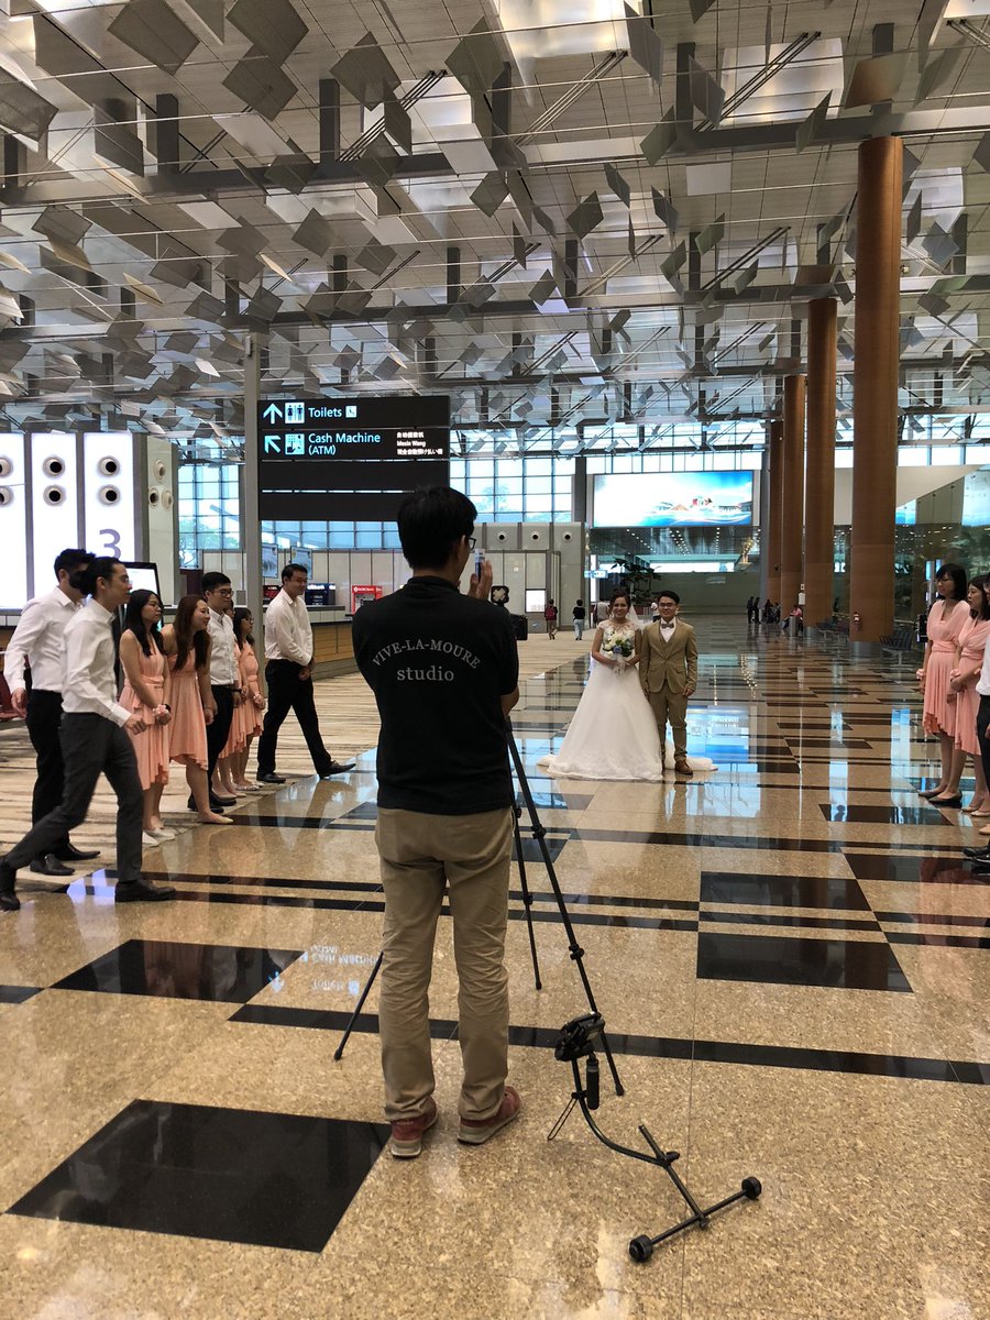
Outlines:
{"type": "Polygon", "coordinates": [[[921,792],[937,807],[961,807],[962,799],[950,792],[958,785],[965,755],[956,751],[956,693],[949,686],[949,675],[956,667],[960,631],[969,619],[966,599],[966,570],[960,564],[942,564],[935,576],[939,599],[928,611],[928,645],[917,678],[924,693],[923,727],[927,734],[937,734],[941,748],[942,772],[937,788],[921,792]]]}

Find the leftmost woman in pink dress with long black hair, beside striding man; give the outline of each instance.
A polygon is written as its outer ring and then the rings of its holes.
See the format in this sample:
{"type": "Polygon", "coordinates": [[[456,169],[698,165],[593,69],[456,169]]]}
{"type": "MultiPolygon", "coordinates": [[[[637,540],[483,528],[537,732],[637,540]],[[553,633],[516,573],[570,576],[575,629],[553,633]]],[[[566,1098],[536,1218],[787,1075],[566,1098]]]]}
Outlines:
{"type": "Polygon", "coordinates": [[[172,675],[161,649],[161,601],[154,591],[132,591],[120,634],[120,664],[124,690],[120,705],[141,717],[144,729],[131,734],[137,774],[144,789],[145,847],[174,838],[161,822],[161,795],[169,781],[169,730],[172,722],[172,675]]]}

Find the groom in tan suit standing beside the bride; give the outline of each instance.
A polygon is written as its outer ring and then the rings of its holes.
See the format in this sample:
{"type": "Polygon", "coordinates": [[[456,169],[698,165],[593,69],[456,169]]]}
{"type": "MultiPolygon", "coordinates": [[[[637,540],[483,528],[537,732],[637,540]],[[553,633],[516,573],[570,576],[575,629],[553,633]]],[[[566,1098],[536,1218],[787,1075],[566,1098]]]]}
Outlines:
{"type": "Polygon", "coordinates": [[[694,628],[677,618],[681,598],[661,591],[660,616],[643,630],[639,681],[653,708],[661,747],[667,742],[667,721],[673,734],[673,768],[690,776],[688,764],[688,697],[698,685],[698,643],[694,628]]]}

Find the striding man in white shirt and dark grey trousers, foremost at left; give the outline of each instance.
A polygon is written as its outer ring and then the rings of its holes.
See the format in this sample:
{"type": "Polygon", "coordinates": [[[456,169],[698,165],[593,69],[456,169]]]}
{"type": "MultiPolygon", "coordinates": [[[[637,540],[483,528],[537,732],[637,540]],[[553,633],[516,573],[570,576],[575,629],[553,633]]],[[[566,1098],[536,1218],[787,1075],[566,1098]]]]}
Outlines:
{"type": "Polygon", "coordinates": [[[92,560],[79,586],[91,597],[65,630],[62,669],[62,801],[0,861],[0,912],[21,906],[17,870],[51,851],[58,840],[86,820],[96,781],[106,775],[117,797],[117,903],[172,899],[173,888],[141,879],[144,793],[128,731],[144,730],[141,715],[117,701],[114,677],[114,616],[131,595],[131,579],[119,560],[92,560]]]}

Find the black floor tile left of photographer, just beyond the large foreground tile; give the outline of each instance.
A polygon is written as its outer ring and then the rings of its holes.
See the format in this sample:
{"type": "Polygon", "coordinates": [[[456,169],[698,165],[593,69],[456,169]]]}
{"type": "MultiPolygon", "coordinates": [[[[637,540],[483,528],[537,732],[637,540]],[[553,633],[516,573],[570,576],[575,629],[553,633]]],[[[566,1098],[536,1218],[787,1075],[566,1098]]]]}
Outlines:
{"type": "Polygon", "coordinates": [[[53,989],[246,1003],[301,954],[301,949],[128,940],[57,981],[53,989]]]}

